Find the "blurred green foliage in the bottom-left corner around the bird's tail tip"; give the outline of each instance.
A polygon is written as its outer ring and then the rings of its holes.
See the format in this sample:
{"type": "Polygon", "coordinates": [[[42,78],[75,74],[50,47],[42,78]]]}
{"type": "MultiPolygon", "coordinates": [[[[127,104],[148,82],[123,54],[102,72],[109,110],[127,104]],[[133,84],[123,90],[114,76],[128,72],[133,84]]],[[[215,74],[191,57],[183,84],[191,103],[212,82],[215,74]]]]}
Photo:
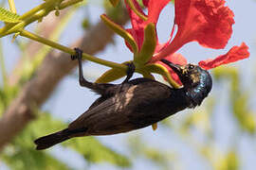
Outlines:
{"type": "Polygon", "coordinates": [[[69,169],[64,162],[58,161],[48,153],[35,150],[33,141],[45,129],[44,124],[47,124],[46,127],[53,128],[63,126],[59,121],[51,121],[50,115],[47,113],[41,119],[30,124],[5,148],[2,154],[3,161],[11,169],[69,169]]]}

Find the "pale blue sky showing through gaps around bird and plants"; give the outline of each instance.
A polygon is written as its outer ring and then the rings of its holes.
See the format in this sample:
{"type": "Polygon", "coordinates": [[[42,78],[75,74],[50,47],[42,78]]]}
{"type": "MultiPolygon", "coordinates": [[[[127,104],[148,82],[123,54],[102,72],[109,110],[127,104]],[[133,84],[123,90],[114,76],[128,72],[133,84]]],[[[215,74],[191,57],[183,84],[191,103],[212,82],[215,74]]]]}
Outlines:
{"type": "MultiPolygon", "coordinates": [[[[33,0],[33,1],[21,1],[15,0],[16,8],[18,8],[18,13],[22,14],[30,8],[33,8],[43,1],[33,0]]],[[[255,64],[254,56],[255,51],[255,42],[256,42],[256,1],[255,0],[229,0],[227,5],[231,8],[235,14],[235,25],[233,26],[233,34],[227,47],[223,50],[212,50],[206,49],[199,46],[196,42],[191,42],[184,45],[178,52],[185,56],[189,62],[197,63],[202,59],[215,58],[221,54],[225,54],[233,45],[240,45],[241,42],[246,42],[249,46],[250,58],[236,63],[243,71],[243,86],[245,88],[251,88],[247,82],[249,82],[248,74],[255,72],[253,65],[255,64]]],[[[101,1],[89,1],[88,10],[90,11],[90,19],[92,23],[97,23],[103,10],[101,8],[101,1]]],[[[84,8],[79,10],[74,16],[72,22],[68,25],[64,34],[59,41],[64,45],[68,45],[74,42],[77,38],[82,36],[83,30],[81,27],[81,21],[86,16],[84,8]],[[72,31],[70,31],[72,30],[72,31]]],[[[174,6],[169,5],[164,8],[162,11],[159,22],[157,25],[157,33],[159,36],[160,42],[166,42],[168,40],[171,29],[174,23],[174,6]]],[[[128,25],[129,26],[129,25],[128,25]]],[[[128,27],[126,26],[126,27],[128,27]]],[[[25,39],[19,37],[18,39],[25,39]]],[[[4,56],[6,59],[6,65],[9,72],[14,67],[16,61],[19,57],[18,48],[14,43],[11,43],[11,37],[3,38],[4,44],[4,56]]],[[[130,60],[133,58],[132,53],[126,48],[123,40],[118,36],[115,37],[115,44],[109,44],[107,48],[95,56],[102,59],[109,59],[116,62],[122,62],[125,60],[130,60]]],[[[95,63],[86,63],[84,64],[83,71],[85,76],[88,76],[88,79],[93,81],[96,77],[100,76],[108,68],[95,63]]],[[[77,76],[77,71],[70,76],[66,76],[64,80],[59,84],[56,91],[50,97],[43,107],[43,110],[49,110],[54,116],[63,119],[66,122],[71,122],[77,118],[84,110],[91,105],[91,103],[98,97],[95,93],[90,92],[87,89],[84,89],[79,86],[77,76]],[[64,107],[66,106],[66,107],[64,107]]],[[[251,77],[251,76],[250,76],[251,77]]],[[[119,81],[117,81],[119,82],[119,81]]],[[[221,148],[227,148],[229,146],[229,136],[230,134],[235,133],[235,127],[232,126],[232,123],[227,123],[229,117],[227,114],[224,114],[227,109],[226,104],[228,102],[227,90],[228,87],[223,87],[213,82],[212,95],[219,95],[219,103],[217,110],[219,118],[215,122],[217,128],[217,135],[219,136],[219,141],[217,144],[221,148]],[[228,126],[226,126],[228,125],[228,126]]],[[[253,104],[251,104],[253,107],[253,104]]],[[[254,106],[255,108],[255,106],[254,106]]],[[[256,109],[256,108],[255,108],[256,109]]],[[[180,114],[185,113],[183,111],[179,114],[174,115],[171,119],[179,119],[180,114]]],[[[163,127],[159,127],[163,129],[163,127]]],[[[143,134],[144,139],[148,139],[150,144],[158,145],[161,149],[173,149],[178,151],[182,155],[182,161],[184,164],[181,167],[190,167],[190,169],[210,169],[209,164],[206,161],[202,161],[202,158],[195,154],[194,150],[189,147],[186,147],[186,141],[181,141],[178,138],[175,138],[175,134],[171,131],[169,135],[166,136],[166,133],[161,133],[162,130],[153,131],[151,127],[146,127],[137,131],[130,132],[131,135],[143,134]],[[166,140],[165,140],[166,139],[166,140]],[[200,163],[198,163],[200,162],[200,163]]],[[[107,144],[112,148],[116,149],[120,153],[127,154],[129,152],[127,146],[125,145],[125,140],[128,134],[119,134],[113,136],[104,136],[98,137],[103,144],[107,144]]],[[[84,140],[86,140],[84,138],[84,140]]],[[[252,166],[253,162],[256,162],[256,147],[251,149],[247,145],[251,141],[245,137],[245,140],[240,144],[240,152],[243,159],[243,169],[254,169],[252,166]]],[[[254,144],[255,145],[255,144],[254,144]]],[[[83,161],[82,157],[73,153],[69,150],[64,150],[60,146],[55,146],[51,152],[58,158],[63,161],[68,161],[72,167],[75,169],[82,169],[82,167],[87,166],[83,161]],[[67,154],[68,153],[68,154],[67,154]],[[69,156],[66,156],[69,155],[69,156]],[[70,160],[70,158],[72,158],[70,160]]],[[[2,169],[3,167],[0,167],[2,169]]],[[[107,163],[101,165],[92,165],[91,169],[113,169],[112,165],[107,163]]],[[[157,166],[151,164],[149,161],[143,159],[138,159],[135,161],[133,169],[157,169],[157,166]]]]}

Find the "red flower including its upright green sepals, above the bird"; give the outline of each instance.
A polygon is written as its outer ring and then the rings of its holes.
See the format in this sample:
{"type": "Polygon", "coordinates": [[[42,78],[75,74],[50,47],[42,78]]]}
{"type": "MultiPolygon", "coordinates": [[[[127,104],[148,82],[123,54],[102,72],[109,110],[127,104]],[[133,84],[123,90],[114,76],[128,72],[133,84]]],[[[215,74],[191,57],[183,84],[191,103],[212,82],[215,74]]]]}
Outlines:
{"type": "MultiPolygon", "coordinates": [[[[132,28],[124,30],[107,19],[105,15],[101,18],[127,41],[127,46],[134,53],[134,62],[140,69],[157,67],[155,70],[159,68],[165,70],[159,65],[154,65],[154,63],[160,63],[169,70],[176,82],[180,82],[178,77],[169,67],[160,62],[160,59],[168,59],[176,64],[184,65],[187,60],[175,54],[184,44],[198,42],[204,47],[221,49],[226,46],[232,34],[234,14],[225,6],[225,0],[175,0],[174,26],[177,26],[177,32],[173,39],[173,26],[169,41],[160,44],[154,29],[160,12],[170,0],[143,0],[142,2],[148,8],[148,14],[140,8],[137,0],[125,0],[132,28]],[[155,67],[151,67],[151,63],[155,67]]],[[[216,59],[202,60],[198,64],[204,69],[211,69],[239,59],[246,59],[248,56],[248,47],[243,42],[241,46],[233,46],[225,55],[216,59]]],[[[155,70],[147,71],[154,72],[155,70]]],[[[166,75],[166,71],[161,74],[166,75]]]]}

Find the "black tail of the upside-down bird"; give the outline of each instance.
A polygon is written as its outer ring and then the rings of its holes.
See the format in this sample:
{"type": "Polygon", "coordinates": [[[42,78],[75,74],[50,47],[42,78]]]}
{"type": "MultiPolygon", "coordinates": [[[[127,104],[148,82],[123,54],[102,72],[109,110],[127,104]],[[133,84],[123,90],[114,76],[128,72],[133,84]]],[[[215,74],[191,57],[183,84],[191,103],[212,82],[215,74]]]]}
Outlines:
{"type": "Polygon", "coordinates": [[[34,141],[34,143],[36,144],[37,150],[43,150],[55,144],[62,143],[65,140],[68,140],[70,138],[69,135],[70,131],[67,128],[65,128],[62,131],[58,131],[56,133],[52,133],[47,136],[38,138],[37,140],[34,141]]]}

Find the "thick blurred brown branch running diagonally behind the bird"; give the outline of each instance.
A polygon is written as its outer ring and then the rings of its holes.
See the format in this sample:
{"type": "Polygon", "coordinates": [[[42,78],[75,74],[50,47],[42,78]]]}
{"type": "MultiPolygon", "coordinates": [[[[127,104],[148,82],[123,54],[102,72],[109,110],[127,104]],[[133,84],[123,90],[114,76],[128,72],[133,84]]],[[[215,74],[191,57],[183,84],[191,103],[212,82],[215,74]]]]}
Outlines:
{"type": "MultiPolygon", "coordinates": [[[[124,25],[127,21],[128,16],[125,14],[117,22],[124,25]]],[[[112,42],[113,36],[114,33],[100,22],[71,46],[80,47],[88,54],[95,54],[112,42]]],[[[26,83],[0,119],[0,150],[35,118],[33,108],[44,104],[60,80],[68,75],[76,64],[77,62],[72,62],[70,55],[65,53],[51,52],[46,56],[36,75],[26,83]]]]}

